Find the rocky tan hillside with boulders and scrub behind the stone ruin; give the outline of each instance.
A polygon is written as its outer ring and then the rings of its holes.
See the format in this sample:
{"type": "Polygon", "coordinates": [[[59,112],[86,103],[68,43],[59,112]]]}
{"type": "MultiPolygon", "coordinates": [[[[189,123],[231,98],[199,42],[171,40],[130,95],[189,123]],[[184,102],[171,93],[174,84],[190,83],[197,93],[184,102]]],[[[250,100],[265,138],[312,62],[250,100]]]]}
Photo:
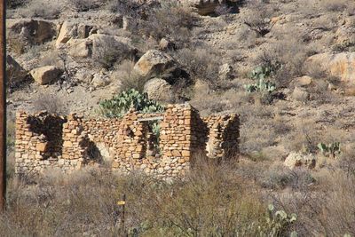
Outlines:
{"type": "Polygon", "coordinates": [[[202,115],[238,112],[243,154],[354,146],[351,0],[8,3],[10,114],[97,115],[135,88],[202,115]]]}

